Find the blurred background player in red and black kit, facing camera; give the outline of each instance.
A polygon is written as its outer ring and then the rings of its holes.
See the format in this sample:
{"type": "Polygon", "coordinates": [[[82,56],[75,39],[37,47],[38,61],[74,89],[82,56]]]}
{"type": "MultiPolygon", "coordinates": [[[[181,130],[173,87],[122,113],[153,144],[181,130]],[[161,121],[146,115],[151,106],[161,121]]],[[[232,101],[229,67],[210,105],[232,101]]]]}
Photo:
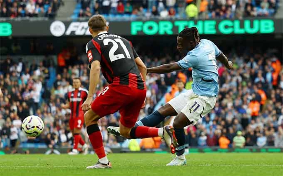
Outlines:
{"type": "Polygon", "coordinates": [[[73,89],[65,95],[66,104],[61,105],[62,108],[70,108],[71,115],[69,120],[70,130],[73,134],[73,150],[69,152],[69,155],[79,154],[78,145],[82,145],[82,149],[86,154],[88,151],[88,145],[82,139],[81,128],[84,124],[84,118],[82,111],[82,103],[86,100],[88,96],[88,91],[81,88],[81,80],[77,77],[73,79],[73,89]]]}

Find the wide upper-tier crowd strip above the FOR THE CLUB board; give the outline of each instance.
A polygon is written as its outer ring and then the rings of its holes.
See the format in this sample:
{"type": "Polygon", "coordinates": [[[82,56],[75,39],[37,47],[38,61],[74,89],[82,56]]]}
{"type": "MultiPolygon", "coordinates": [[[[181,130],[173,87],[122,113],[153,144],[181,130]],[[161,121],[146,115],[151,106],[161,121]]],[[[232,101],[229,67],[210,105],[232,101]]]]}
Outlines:
{"type": "Polygon", "coordinates": [[[275,14],[278,0],[77,0],[78,17],[232,19],[268,17],[275,14]]]}

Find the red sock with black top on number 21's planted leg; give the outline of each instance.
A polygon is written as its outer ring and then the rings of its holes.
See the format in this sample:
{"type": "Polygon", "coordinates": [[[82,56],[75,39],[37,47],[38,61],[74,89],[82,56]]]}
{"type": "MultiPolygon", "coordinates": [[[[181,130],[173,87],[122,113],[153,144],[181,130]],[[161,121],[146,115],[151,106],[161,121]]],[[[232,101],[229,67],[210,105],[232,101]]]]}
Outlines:
{"type": "Polygon", "coordinates": [[[93,150],[97,154],[98,158],[100,159],[105,157],[106,154],[104,151],[102,136],[98,125],[90,125],[86,128],[86,130],[89,134],[89,140],[92,143],[93,150]]]}

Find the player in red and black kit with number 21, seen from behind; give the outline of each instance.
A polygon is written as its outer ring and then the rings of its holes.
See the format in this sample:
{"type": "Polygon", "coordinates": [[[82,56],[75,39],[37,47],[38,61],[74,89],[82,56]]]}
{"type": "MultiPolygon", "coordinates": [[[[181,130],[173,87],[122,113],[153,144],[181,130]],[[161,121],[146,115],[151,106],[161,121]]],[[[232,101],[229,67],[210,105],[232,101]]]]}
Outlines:
{"type": "Polygon", "coordinates": [[[87,133],[99,159],[95,165],[87,168],[111,168],[97,121],[119,110],[120,134],[124,137],[135,139],[160,136],[167,144],[174,143],[176,146],[173,127],[134,127],[146,97],[146,67],[132,43],[119,35],[108,33],[109,27],[101,15],[92,16],[88,25],[93,39],[86,45],[90,67],[89,95],[82,109],[87,111],[84,115],[87,133]],[[92,102],[100,70],[109,86],[105,87],[92,102]]]}

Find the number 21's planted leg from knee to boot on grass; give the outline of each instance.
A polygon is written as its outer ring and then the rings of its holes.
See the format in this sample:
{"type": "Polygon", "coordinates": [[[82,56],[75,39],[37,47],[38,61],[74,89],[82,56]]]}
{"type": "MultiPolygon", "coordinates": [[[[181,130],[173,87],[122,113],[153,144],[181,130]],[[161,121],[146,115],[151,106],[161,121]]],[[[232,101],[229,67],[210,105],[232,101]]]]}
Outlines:
{"type": "Polygon", "coordinates": [[[100,119],[92,109],[89,109],[85,113],[86,131],[89,135],[89,140],[92,144],[93,150],[98,156],[98,162],[95,165],[88,166],[87,169],[98,169],[98,168],[111,168],[111,163],[108,161],[104,151],[103,141],[100,129],[97,124],[97,120],[100,119]]]}

